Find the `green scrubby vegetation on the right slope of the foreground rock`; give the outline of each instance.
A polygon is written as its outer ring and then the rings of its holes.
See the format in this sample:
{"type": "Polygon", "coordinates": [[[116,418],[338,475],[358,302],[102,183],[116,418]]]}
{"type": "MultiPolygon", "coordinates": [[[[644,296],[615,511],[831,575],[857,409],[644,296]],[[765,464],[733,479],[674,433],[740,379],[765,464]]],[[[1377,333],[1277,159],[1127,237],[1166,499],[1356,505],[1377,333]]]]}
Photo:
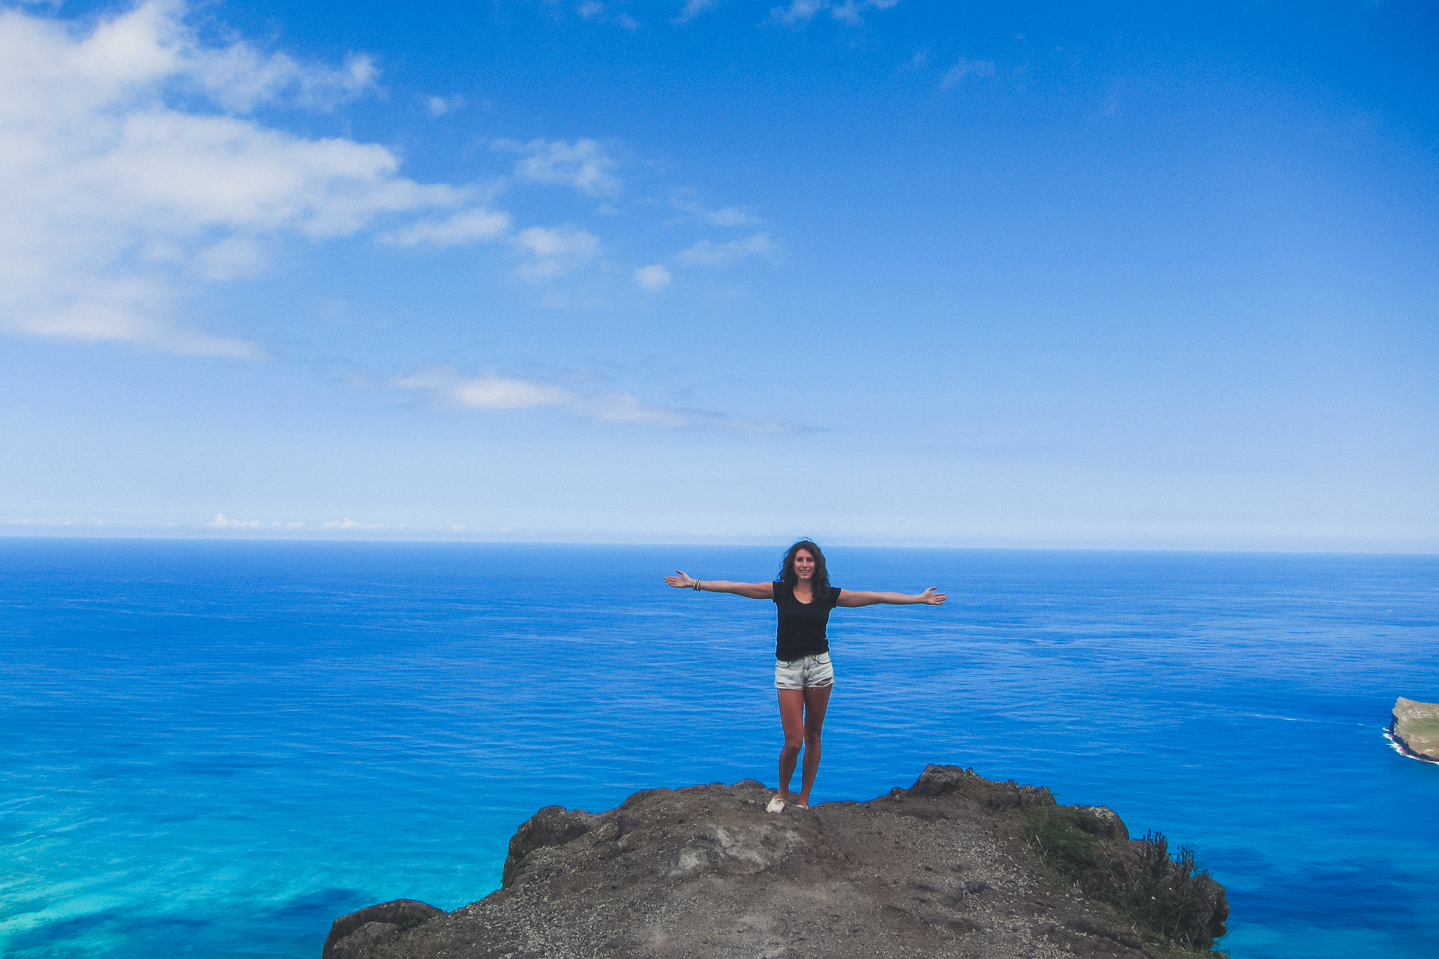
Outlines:
{"type": "Polygon", "coordinates": [[[1212,953],[1216,910],[1227,916],[1219,887],[1190,845],[1171,857],[1161,832],[1143,840],[1108,840],[1085,811],[1065,807],[1027,811],[1025,838],[1066,886],[1108,903],[1150,945],[1181,955],[1212,953]]]}

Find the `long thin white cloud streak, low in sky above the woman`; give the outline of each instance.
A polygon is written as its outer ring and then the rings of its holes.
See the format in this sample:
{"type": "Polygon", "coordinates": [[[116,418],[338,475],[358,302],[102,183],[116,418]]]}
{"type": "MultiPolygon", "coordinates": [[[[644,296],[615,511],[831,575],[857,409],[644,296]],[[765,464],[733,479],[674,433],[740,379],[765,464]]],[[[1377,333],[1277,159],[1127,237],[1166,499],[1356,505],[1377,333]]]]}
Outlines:
{"type": "Polygon", "coordinates": [[[465,378],[455,370],[427,370],[390,381],[401,390],[425,390],[437,401],[466,410],[531,410],[560,407],[599,423],[728,433],[793,433],[783,423],[730,417],[705,410],[681,410],[648,403],[629,393],[578,393],[568,387],[485,374],[465,378]]]}

